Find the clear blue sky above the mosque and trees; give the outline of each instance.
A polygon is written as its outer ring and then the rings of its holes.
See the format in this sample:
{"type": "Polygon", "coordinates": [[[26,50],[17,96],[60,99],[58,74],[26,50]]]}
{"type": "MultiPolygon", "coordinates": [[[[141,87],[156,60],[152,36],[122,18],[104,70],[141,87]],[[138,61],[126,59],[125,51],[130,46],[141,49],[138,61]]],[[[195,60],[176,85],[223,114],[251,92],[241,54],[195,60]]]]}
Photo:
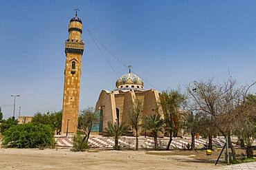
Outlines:
{"type": "MultiPolygon", "coordinates": [[[[62,108],[64,41],[79,8],[91,30],[138,76],[159,90],[230,74],[239,84],[256,79],[256,1],[0,1],[0,105],[12,116],[62,108]]],[[[80,109],[95,106],[102,89],[114,89],[111,70],[84,29],[80,109]]],[[[128,72],[105,52],[121,76],[128,72]]],[[[152,88],[145,82],[147,89],[152,88]]],[[[253,89],[256,92],[256,88],[253,89]]]]}

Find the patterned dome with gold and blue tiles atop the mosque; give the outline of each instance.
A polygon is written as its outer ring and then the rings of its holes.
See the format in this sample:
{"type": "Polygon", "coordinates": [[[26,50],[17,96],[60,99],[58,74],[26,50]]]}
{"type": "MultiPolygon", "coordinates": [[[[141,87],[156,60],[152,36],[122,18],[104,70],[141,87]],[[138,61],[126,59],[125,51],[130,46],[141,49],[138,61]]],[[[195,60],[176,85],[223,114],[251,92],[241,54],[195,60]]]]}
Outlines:
{"type": "Polygon", "coordinates": [[[143,80],[136,74],[129,72],[116,81],[116,89],[144,89],[143,80]]]}

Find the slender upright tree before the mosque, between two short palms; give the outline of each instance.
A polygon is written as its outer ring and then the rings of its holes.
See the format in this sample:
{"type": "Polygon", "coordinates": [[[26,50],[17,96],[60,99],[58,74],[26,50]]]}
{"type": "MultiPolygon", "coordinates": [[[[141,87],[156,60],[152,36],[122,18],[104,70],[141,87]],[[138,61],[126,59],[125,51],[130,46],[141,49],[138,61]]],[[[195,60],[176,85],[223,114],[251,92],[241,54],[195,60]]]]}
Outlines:
{"type": "Polygon", "coordinates": [[[134,107],[129,114],[129,123],[135,130],[135,135],[136,135],[136,150],[138,150],[138,130],[141,126],[141,119],[142,119],[142,110],[143,110],[143,105],[140,102],[140,100],[136,99],[134,100],[134,107]]]}

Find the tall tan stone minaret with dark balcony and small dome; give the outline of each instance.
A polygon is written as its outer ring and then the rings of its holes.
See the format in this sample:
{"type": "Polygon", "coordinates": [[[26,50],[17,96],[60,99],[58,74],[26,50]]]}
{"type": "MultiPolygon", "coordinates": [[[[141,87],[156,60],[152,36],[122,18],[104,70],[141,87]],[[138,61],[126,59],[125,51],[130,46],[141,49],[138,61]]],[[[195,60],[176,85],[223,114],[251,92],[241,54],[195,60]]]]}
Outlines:
{"type": "Polygon", "coordinates": [[[82,21],[77,17],[68,25],[68,39],[65,43],[66,65],[64,95],[62,107],[62,134],[73,134],[77,131],[79,113],[79,94],[81,76],[81,58],[84,42],[81,40],[82,21]]]}

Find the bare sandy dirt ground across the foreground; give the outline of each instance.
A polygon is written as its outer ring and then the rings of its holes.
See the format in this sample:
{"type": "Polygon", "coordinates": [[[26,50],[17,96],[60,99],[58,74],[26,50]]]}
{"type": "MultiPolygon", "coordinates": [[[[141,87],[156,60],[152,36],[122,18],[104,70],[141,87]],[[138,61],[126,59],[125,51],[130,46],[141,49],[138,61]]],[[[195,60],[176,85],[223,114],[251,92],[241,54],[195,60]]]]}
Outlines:
{"type": "MultiPolygon", "coordinates": [[[[113,151],[93,149],[3,149],[0,169],[212,169],[219,155],[214,151],[113,151]]],[[[222,165],[218,165],[222,166],[222,165]]]]}

